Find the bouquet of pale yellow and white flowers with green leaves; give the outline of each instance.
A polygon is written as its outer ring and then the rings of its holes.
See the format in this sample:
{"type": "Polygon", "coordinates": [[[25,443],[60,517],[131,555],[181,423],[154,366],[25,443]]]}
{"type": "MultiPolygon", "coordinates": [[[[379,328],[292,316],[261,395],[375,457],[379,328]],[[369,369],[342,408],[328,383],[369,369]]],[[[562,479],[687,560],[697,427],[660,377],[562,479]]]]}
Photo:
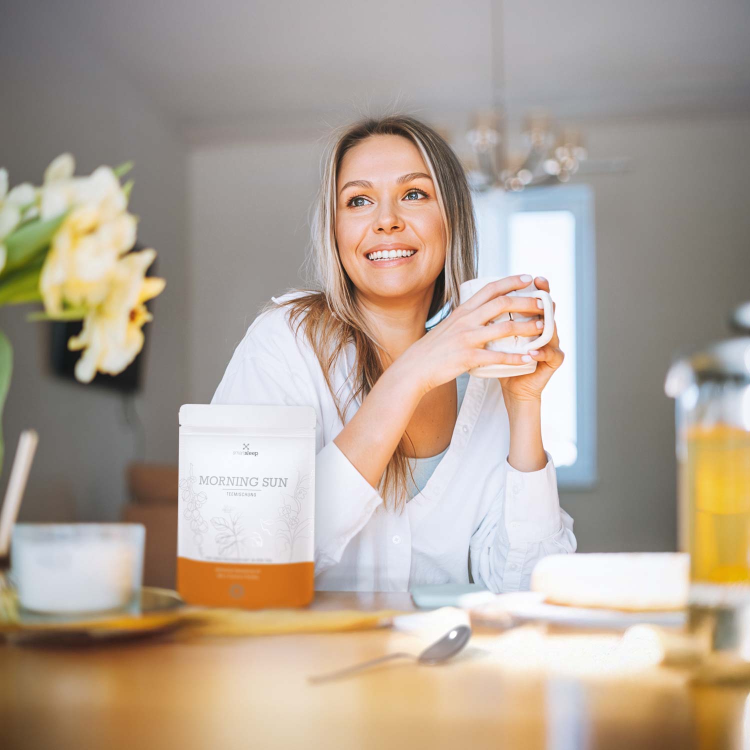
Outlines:
{"type": "MultiPolygon", "coordinates": [[[[131,167],[100,166],[76,177],[66,153],[49,164],[41,187],[26,182],[10,191],[0,169],[0,307],[40,302],[43,311],[28,320],[83,320],[68,340],[68,349],[83,350],[75,367],[81,383],[133,362],[152,318],[144,303],[165,284],[145,276],[154,250],[128,252],[138,217],[127,211],[133,181],[120,178],[131,167]]],[[[13,349],[0,331],[0,419],[12,368],[13,349]]],[[[0,429],[0,469],[2,459],[0,429]]]]}

